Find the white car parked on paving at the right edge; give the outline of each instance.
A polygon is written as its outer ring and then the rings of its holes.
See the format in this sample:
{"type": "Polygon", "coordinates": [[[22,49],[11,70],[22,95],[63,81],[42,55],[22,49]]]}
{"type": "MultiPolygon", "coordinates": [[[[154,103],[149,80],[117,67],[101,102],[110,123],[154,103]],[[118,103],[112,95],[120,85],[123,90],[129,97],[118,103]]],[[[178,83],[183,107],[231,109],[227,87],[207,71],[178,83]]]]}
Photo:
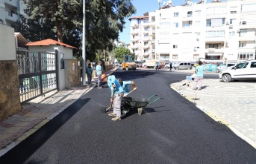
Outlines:
{"type": "Polygon", "coordinates": [[[248,60],[219,73],[222,82],[231,80],[256,80],[256,60],[248,60]]]}

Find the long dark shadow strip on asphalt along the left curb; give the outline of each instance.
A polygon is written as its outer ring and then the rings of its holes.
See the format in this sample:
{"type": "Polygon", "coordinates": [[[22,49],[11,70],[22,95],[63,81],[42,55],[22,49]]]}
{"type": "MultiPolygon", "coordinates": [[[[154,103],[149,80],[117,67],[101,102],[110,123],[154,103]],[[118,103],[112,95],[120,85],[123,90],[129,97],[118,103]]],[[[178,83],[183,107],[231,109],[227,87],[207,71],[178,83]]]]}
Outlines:
{"type": "MultiPolygon", "coordinates": [[[[37,148],[40,148],[44,142],[49,140],[49,138],[62,126],[64,125],[72,116],[74,116],[81,108],[89,102],[90,99],[78,99],[63,112],[58,114],[54,119],[51,119],[42,128],[37,130],[34,134],[31,134],[28,138],[22,141],[15,148],[12,148],[7,154],[0,157],[0,163],[24,163],[37,148]]],[[[41,163],[42,161],[34,161],[33,163],[41,163]]],[[[31,162],[30,162],[31,163],[31,162]]]]}

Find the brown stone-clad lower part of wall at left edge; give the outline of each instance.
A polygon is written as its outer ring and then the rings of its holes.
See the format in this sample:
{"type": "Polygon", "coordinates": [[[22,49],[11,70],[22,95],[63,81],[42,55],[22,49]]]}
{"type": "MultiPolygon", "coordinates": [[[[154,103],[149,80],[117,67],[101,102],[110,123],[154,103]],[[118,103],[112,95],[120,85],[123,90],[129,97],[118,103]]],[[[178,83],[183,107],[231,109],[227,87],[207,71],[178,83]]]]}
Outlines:
{"type": "Polygon", "coordinates": [[[0,61],[0,121],[21,110],[16,60],[0,61]]]}

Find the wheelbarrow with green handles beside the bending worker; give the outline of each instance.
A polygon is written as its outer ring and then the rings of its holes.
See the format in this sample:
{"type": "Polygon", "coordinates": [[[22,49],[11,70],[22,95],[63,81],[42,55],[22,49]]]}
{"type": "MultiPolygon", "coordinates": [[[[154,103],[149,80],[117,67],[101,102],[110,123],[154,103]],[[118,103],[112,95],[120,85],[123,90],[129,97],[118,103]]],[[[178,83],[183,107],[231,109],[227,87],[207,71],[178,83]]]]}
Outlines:
{"type": "Polygon", "coordinates": [[[163,99],[161,97],[158,97],[157,99],[154,99],[154,101],[149,103],[149,100],[152,99],[154,96],[157,96],[157,94],[150,96],[149,99],[133,98],[130,96],[123,97],[121,104],[122,114],[128,114],[129,111],[137,109],[138,114],[141,115],[144,107],[152,105],[152,103],[156,102],[158,99],[163,99]]]}

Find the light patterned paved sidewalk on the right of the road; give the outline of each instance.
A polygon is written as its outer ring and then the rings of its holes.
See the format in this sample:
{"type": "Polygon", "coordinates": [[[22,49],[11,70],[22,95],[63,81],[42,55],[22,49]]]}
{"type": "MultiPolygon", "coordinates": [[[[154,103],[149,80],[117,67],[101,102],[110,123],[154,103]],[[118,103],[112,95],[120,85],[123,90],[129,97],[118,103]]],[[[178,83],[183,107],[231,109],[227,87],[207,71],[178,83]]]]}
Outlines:
{"type": "Polygon", "coordinates": [[[203,79],[200,91],[193,90],[193,82],[190,85],[184,85],[184,82],[187,81],[173,83],[171,88],[256,148],[255,82],[203,79]]]}

